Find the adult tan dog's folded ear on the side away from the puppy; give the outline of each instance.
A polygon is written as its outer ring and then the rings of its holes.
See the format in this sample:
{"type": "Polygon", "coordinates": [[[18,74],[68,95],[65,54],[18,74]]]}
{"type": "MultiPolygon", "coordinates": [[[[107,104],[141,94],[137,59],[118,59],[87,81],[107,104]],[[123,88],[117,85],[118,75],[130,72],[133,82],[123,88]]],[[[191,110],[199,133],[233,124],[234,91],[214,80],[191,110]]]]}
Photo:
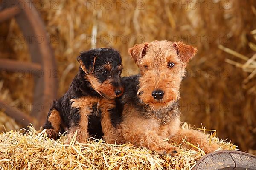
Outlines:
{"type": "Polygon", "coordinates": [[[194,48],[192,45],[183,44],[183,42],[173,42],[172,47],[175,48],[183,63],[187,63],[197,52],[197,48],[194,48]]]}

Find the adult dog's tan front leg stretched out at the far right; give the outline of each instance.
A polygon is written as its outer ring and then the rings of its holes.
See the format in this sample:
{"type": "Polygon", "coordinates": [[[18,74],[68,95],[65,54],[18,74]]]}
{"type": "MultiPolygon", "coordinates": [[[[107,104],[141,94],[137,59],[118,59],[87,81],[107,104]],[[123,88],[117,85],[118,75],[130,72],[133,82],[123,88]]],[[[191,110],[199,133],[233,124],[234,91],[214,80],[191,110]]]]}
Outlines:
{"type": "Polygon", "coordinates": [[[181,143],[183,139],[186,139],[187,142],[200,147],[204,152],[211,153],[219,148],[218,144],[212,143],[209,144],[207,135],[193,129],[180,129],[178,133],[171,138],[171,141],[181,143]]]}

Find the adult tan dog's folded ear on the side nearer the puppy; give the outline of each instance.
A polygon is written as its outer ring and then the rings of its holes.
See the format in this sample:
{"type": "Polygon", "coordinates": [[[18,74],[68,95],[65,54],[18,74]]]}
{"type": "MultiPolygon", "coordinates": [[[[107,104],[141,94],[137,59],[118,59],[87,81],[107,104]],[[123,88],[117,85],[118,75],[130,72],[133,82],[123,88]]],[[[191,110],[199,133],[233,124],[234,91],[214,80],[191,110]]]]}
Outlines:
{"type": "Polygon", "coordinates": [[[138,64],[139,59],[143,58],[148,49],[148,42],[144,42],[141,44],[136,44],[132,48],[128,49],[128,53],[130,54],[131,58],[134,59],[136,64],[138,64]]]}

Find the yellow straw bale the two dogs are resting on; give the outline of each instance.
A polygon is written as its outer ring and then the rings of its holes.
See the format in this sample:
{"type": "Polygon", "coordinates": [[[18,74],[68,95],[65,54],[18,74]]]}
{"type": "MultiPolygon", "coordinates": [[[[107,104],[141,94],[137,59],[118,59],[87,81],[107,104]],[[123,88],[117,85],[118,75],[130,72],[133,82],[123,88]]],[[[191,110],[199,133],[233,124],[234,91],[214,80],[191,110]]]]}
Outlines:
{"type": "MultiPolygon", "coordinates": [[[[187,127],[187,126],[186,126],[187,127]]],[[[33,127],[0,134],[0,168],[3,169],[108,169],[108,170],[190,170],[204,152],[180,148],[175,157],[159,156],[145,147],[134,144],[111,145],[102,140],[90,139],[87,144],[59,136],[57,141],[47,138],[45,130],[40,133],[33,127]]],[[[75,139],[76,135],[73,139],[75,139]]],[[[237,150],[236,146],[209,135],[221,149],[237,150]]],[[[184,140],[184,142],[186,142],[184,140]]]]}

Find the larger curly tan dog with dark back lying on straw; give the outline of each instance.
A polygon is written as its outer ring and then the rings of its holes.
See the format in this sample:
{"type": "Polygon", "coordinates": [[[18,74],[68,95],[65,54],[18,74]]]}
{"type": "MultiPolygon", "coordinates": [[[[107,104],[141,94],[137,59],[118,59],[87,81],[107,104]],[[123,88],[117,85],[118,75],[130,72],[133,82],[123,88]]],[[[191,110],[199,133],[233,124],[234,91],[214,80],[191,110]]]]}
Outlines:
{"type": "Polygon", "coordinates": [[[218,145],[209,144],[204,133],[180,128],[180,83],[197,49],[182,42],[153,41],[134,45],[128,52],[140,75],[122,78],[124,94],[110,111],[115,113],[106,113],[116,134],[104,134],[106,142],[131,142],[174,155],[178,150],[170,142],[181,143],[186,138],[205,153],[216,150],[218,145]]]}

